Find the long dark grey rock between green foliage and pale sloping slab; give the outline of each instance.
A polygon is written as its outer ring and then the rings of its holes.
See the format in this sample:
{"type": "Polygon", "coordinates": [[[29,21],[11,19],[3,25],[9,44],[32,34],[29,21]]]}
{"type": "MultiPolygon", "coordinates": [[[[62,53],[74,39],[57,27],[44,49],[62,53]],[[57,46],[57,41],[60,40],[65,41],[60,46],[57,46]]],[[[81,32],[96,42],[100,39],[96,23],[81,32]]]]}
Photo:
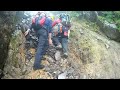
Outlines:
{"type": "Polygon", "coordinates": [[[84,11],[82,12],[84,18],[88,21],[96,23],[100,27],[100,31],[103,32],[108,38],[115,41],[120,41],[120,32],[114,23],[107,21],[101,21],[98,16],[103,15],[102,11],[84,11]]]}

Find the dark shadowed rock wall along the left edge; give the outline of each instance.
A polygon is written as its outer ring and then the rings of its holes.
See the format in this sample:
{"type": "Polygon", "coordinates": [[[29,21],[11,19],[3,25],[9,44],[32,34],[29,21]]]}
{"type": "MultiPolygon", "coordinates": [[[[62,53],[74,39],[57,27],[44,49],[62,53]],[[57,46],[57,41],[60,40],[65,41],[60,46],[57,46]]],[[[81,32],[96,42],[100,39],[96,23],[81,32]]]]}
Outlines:
{"type": "Polygon", "coordinates": [[[19,20],[17,11],[1,11],[0,12],[0,69],[3,70],[5,61],[8,56],[9,43],[15,25],[19,20]]]}

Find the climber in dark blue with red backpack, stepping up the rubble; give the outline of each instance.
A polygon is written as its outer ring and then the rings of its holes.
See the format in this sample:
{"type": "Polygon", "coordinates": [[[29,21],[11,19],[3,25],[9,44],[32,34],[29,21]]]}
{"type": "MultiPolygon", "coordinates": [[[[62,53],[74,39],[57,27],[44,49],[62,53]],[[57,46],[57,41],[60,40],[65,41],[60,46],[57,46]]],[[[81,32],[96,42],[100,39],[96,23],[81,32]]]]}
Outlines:
{"type": "MultiPolygon", "coordinates": [[[[30,29],[32,28],[36,31],[39,39],[33,65],[33,69],[38,70],[44,68],[44,66],[41,64],[41,59],[43,55],[45,55],[48,46],[52,45],[52,19],[47,17],[45,12],[38,12],[38,14],[32,19],[32,25],[30,29]]],[[[26,34],[28,32],[29,31],[27,31],[26,34]]]]}

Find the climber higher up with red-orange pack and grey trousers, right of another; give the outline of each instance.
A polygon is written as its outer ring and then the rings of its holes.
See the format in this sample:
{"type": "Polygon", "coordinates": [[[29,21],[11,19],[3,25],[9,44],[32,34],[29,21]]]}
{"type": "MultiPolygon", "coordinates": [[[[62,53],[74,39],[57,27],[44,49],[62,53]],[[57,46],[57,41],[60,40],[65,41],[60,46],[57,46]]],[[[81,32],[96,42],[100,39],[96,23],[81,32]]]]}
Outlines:
{"type": "Polygon", "coordinates": [[[70,17],[66,14],[60,14],[59,18],[52,23],[53,27],[53,42],[56,43],[57,48],[63,49],[63,57],[68,57],[68,36],[69,36],[69,29],[71,27],[70,24],[70,17]],[[54,30],[57,29],[57,33],[54,30]]]}

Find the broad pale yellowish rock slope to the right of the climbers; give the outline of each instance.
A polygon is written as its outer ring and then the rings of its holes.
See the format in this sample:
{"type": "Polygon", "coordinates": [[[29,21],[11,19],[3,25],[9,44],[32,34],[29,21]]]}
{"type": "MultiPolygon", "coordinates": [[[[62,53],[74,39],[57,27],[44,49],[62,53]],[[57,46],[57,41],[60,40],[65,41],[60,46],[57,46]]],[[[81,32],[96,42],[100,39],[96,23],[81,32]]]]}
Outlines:
{"type": "MultiPolygon", "coordinates": [[[[75,25],[75,24],[74,24],[75,25]]],[[[120,78],[120,44],[76,24],[70,40],[70,60],[81,78],[120,78]],[[72,42],[74,41],[74,42],[72,42]]]]}

